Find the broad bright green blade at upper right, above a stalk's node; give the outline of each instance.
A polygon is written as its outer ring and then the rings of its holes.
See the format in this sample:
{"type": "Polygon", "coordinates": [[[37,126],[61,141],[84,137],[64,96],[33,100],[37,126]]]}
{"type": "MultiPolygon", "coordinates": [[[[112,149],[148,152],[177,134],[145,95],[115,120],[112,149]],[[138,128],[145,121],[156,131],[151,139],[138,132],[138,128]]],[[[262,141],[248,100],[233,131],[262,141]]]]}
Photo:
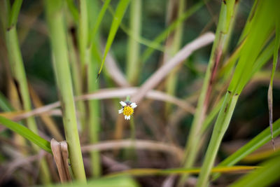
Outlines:
{"type": "Polygon", "coordinates": [[[252,74],[248,74],[248,69],[255,67],[255,60],[274,30],[274,16],[277,17],[278,15],[276,12],[274,12],[272,7],[269,7],[270,9],[267,8],[269,5],[271,6],[269,3],[263,4],[263,1],[260,1],[256,13],[254,14],[251,29],[247,35],[247,41],[241,51],[239,63],[237,64],[235,74],[233,75],[229,86],[229,90],[232,90],[235,93],[239,94],[241,90],[243,90],[246,83],[248,83],[252,76],[252,74]],[[268,9],[269,12],[267,12],[268,9]],[[271,19],[271,17],[274,19],[271,19]]]}

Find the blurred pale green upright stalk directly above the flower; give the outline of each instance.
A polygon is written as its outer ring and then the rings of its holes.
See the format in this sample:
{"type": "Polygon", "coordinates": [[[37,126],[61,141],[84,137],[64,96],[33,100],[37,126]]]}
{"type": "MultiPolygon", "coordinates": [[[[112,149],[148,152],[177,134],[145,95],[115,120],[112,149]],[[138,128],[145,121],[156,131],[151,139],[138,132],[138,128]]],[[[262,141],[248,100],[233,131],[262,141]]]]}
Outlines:
{"type": "MultiPolygon", "coordinates": [[[[130,30],[135,37],[141,36],[142,0],[134,0],[130,4],[130,30]]],[[[130,36],[127,45],[127,80],[135,84],[140,74],[140,44],[130,36]]]]}

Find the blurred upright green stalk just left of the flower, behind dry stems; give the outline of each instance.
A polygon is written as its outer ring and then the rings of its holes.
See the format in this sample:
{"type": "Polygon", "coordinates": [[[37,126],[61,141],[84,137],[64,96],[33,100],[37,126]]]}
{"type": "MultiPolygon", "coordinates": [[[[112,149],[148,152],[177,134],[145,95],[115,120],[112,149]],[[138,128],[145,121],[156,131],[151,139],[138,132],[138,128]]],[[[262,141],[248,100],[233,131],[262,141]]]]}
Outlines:
{"type": "MultiPolygon", "coordinates": [[[[85,1],[86,2],[86,8],[87,8],[87,15],[85,15],[85,20],[87,20],[87,25],[85,25],[85,28],[90,30],[91,28],[97,27],[97,18],[98,18],[98,8],[99,5],[97,1],[85,1]]],[[[109,3],[109,2],[108,2],[109,3]]],[[[108,6],[108,5],[106,5],[108,6]]],[[[80,10],[83,12],[83,10],[80,10]]],[[[105,9],[106,11],[106,9],[105,9]]],[[[105,13],[105,12],[104,12],[105,13]]],[[[100,15],[100,13],[99,13],[100,15]]],[[[102,15],[103,17],[103,15],[102,15]]],[[[99,17],[100,18],[100,17],[99,17]]],[[[100,18],[101,22],[102,18],[100,18]]],[[[99,22],[99,24],[100,24],[99,22]]],[[[84,29],[85,29],[84,28],[84,29]]],[[[97,27],[98,28],[98,27],[97,27]]],[[[87,92],[96,92],[99,88],[99,83],[96,83],[94,81],[94,76],[97,74],[98,70],[98,62],[99,57],[99,33],[97,32],[97,29],[92,35],[92,39],[89,37],[86,38],[87,45],[83,46],[85,48],[85,64],[86,64],[86,88],[87,92]],[[90,45],[88,44],[90,43],[90,45]]],[[[80,37],[84,37],[83,35],[80,37]]],[[[99,101],[98,100],[91,100],[87,102],[87,113],[90,113],[90,115],[87,116],[87,126],[85,130],[88,130],[88,138],[90,141],[90,144],[97,144],[99,142],[99,129],[100,129],[100,109],[99,109],[99,101]]],[[[92,176],[99,177],[102,174],[102,166],[101,166],[101,158],[99,155],[99,151],[91,151],[90,152],[90,158],[91,158],[91,169],[92,169],[92,176]]]]}

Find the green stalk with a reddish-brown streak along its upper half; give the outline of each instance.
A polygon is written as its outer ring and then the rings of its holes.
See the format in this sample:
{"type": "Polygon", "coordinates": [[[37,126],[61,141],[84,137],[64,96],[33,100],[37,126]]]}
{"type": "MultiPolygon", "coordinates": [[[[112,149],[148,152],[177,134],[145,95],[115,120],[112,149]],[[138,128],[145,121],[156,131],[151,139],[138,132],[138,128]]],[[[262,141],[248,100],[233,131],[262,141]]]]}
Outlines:
{"type": "MultiPolygon", "coordinates": [[[[235,0],[226,1],[222,3],[220,19],[218,22],[218,28],[216,31],[216,38],[211,50],[211,56],[209,60],[209,65],[207,67],[207,73],[204,77],[204,83],[202,86],[202,91],[200,93],[200,98],[197,104],[197,110],[195,112],[195,118],[193,119],[192,126],[190,128],[190,134],[186,146],[186,157],[184,166],[192,167],[195,158],[197,158],[197,146],[200,142],[200,137],[202,135],[202,123],[207,112],[207,106],[209,102],[209,95],[211,92],[211,87],[213,86],[214,77],[216,76],[216,68],[221,60],[221,56],[224,53],[225,41],[227,41],[228,32],[232,22],[232,15],[235,13],[235,0]]],[[[185,177],[182,177],[181,184],[183,183],[185,177]]]]}

